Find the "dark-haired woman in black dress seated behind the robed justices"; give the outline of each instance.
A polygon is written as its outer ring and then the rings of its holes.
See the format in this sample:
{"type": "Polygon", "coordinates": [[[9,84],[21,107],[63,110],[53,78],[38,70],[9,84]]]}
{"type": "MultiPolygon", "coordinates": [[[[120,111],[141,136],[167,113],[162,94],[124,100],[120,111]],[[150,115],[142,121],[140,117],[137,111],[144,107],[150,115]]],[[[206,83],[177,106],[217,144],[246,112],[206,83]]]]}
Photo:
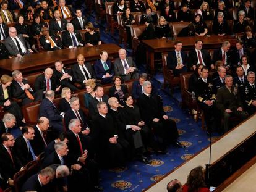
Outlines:
{"type": "Polygon", "coordinates": [[[125,105],[124,94],[128,93],[127,86],[121,85],[121,77],[115,76],[113,78],[114,86],[109,88],[109,98],[115,97],[118,99],[118,102],[121,106],[125,105]]]}

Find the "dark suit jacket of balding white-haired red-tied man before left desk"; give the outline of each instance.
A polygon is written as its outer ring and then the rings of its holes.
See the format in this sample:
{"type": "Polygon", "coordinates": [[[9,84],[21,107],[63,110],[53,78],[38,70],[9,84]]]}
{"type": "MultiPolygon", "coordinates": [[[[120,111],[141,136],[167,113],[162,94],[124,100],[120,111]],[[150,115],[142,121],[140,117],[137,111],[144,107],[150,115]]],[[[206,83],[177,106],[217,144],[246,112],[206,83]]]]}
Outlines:
{"type": "MultiPolygon", "coordinates": [[[[58,88],[59,82],[54,76],[52,76],[50,80],[51,80],[51,90],[54,91],[56,90],[56,88],[58,88]]],[[[36,77],[36,80],[35,80],[35,91],[38,91],[38,90],[45,91],[46,88],[47,86],[46,86],[45,75],[44,74],[38,75],[38,77],[36,77]]]]}

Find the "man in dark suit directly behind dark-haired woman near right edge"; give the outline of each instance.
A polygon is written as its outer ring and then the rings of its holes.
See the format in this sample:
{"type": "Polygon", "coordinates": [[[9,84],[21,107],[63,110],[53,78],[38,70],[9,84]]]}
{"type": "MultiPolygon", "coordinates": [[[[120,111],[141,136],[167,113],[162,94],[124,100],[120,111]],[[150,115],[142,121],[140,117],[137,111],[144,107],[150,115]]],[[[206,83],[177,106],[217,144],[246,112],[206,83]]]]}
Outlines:
{"type": "Polygon", "coordinates": [[[231,52],[231,62],[233,64],[233,71],[236,70],[237,65],[241,65],[240,59],[243,55],[247,55],[250,58],[250,51],[244,48],[244,43],[242,41],[237,41],[236,49],[233,49],[233,51],[231,52]]]}

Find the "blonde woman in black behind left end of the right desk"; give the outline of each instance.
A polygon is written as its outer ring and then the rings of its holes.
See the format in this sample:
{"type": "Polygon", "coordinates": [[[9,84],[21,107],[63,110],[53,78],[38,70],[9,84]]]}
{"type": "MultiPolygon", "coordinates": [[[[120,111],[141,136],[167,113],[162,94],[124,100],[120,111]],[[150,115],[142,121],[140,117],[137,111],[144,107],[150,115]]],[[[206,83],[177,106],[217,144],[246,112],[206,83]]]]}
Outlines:
{"type": "Polygon", "coordinates": [[[160,16],[158,19],[159,25],[156,25],[155,36],[156,38],[169,38],[172,36],[171,28],[166,22],[163,16],[160,16]]]}

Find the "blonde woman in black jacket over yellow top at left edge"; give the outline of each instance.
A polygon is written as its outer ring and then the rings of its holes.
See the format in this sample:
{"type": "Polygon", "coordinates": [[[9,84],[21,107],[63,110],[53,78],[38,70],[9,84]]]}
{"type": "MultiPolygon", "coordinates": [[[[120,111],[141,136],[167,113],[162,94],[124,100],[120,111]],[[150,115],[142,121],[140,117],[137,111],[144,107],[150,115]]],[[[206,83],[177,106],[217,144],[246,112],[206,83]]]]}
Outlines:
{"type": "Polygon", "coordinates": [[[17,102],[11,101],[11,88],[12,77],[9,75],[2,75],[0,79],[0,106],[4,107],[4,111],[13,114],[16,118],[17,125],[23,125],[23,115],[20,110],[20,106],[17,102]]]}

